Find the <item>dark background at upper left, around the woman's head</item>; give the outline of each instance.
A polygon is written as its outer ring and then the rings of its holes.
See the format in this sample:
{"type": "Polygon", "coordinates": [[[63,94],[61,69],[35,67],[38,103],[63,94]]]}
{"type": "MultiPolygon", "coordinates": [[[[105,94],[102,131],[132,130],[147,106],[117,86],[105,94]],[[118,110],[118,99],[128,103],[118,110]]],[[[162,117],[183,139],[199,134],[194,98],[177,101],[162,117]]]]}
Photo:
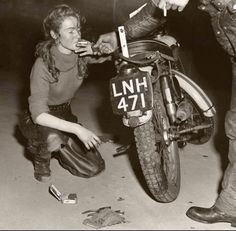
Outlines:
{"type": "Polygon", "coordinates": [[[22,68],[32,64],[35,45],[43,40],[42,21],[56,4],[66,3],[86,18],[90,35],[113,30],[140,0],[0,0],[0,68],[22,68]]]}

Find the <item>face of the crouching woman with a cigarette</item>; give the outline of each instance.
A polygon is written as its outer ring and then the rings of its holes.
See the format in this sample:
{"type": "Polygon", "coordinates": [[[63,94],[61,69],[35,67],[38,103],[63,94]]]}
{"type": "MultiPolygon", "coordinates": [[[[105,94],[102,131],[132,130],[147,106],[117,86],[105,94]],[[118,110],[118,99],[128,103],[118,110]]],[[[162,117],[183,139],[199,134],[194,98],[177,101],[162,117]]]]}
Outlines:
{"type": "Polygon", "coordinates": [[[62,53],[70,54],[76,49],[76,44],[81,39],[80,23],[77,18],[67,17],[61,24],[58,34],[58,49],[62,53]]]}

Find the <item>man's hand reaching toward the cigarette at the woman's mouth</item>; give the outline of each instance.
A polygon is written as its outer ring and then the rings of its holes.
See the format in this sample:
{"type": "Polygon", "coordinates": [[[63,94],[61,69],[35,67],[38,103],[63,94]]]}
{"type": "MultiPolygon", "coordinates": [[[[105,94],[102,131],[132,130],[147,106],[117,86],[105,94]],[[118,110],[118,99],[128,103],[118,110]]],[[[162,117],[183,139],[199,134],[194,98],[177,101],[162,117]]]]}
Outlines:
{"type": "Polygon", "coordinates": [[[117,47],[118,39],[115,32],[100,35],[98,41],[94,45],[94,48],[98,48],[101,54],[111,54],[117,47]]]}

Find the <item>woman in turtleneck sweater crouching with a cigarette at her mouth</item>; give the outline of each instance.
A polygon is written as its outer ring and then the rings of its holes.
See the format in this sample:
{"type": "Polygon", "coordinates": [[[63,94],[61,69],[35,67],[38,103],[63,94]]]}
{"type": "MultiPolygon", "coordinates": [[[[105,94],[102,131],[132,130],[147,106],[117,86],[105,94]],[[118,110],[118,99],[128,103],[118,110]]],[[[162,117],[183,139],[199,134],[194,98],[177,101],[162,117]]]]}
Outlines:
{"type": "Polygon", "coordinates": [[[81,23],[80,14],[68,5],[56,6],[43,21],[46,40],[36,47],[37,59],[30,75],[29,110],[20,119],[20,129],[28,141],[27,149],[32,154],[34,177],[38,181],[50,179],[51,153],[56,151],[61,151],[57,157],[62,166],[74,175],[90,177],[105,168],[96,149],[101,140],[77,123],[70,107],[71,99],[87,76],[87,64],[108,59],[91,57],[91,43],[81,39],[81,23]],[[80,45],[82,41],[85,44],[80,45]],[[69,139],[70,134],[81,141],[81,151],[86,147],[94,154],[89,174],[86,169],[84,175],[77,169],[81,157],[76,156],[79,149],[69,139]],[[73,157],[66,159],[65,155],[70,152],[73,157]]]}

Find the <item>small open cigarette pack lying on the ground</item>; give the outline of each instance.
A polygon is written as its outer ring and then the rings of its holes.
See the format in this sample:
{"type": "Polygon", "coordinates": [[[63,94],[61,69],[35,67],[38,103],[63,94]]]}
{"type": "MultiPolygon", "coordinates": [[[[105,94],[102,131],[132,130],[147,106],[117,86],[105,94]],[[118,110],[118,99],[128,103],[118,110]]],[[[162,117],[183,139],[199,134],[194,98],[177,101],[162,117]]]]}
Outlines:
{"type": "Polygon", "coordinates": [[[57,198],[58,201],[61,201],[62,204],[77,204],[77,195],[75,193],[62,194],[55,185],[51,184],[49,186],[49,191],[57,198]]]}

